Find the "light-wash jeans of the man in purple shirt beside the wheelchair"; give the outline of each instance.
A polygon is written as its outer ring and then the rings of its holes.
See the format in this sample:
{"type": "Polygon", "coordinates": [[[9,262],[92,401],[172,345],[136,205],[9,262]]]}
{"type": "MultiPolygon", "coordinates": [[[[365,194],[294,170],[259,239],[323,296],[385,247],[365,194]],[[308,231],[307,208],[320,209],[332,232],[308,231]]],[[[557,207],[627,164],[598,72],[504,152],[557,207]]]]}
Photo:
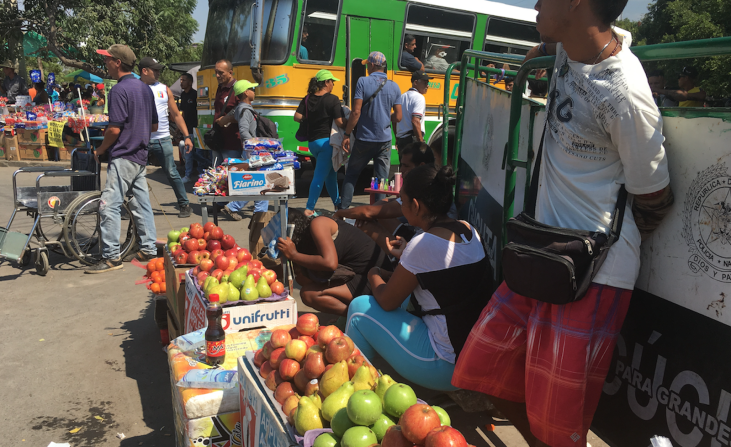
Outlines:
{"type": "Polygon", "coordinates": [[[107,166],[107,183],[99,203],[101,218],[102,256],[105,259],[119,259],[119,239],[122,228],[120,212],[126,195],[131,195],[130,212],[140,237],[140,249],[155,256],[155,216],[150,205],[147,190],[146,168],[124,158],[114,158],[107,166]]]}

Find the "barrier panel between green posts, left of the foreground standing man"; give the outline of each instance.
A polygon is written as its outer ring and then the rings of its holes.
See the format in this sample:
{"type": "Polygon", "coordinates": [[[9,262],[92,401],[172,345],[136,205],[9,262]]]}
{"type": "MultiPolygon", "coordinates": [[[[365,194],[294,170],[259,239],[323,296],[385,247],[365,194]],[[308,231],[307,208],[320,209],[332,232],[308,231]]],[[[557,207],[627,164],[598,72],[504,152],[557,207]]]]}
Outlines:
{"type": "MultiPolygon", "coordinates": [[[[457,206],[460,218],[467,220],[480,234],[494,279],[497,280],[505,189],[502,160],[508,142],[511,94],[470,78],[466,84],[465,131],[458,168],[457,206]]],[[[521,159],[527,157],[531,113],[528,101],[524,101],[521,113],[521,159]]],[[[542,119],[536,118],[538,121],[542,122],[542,119]]],[[[525,170],[519,169],[517,172],[516,214],[523,208],[525,191],[525,170]]]]}

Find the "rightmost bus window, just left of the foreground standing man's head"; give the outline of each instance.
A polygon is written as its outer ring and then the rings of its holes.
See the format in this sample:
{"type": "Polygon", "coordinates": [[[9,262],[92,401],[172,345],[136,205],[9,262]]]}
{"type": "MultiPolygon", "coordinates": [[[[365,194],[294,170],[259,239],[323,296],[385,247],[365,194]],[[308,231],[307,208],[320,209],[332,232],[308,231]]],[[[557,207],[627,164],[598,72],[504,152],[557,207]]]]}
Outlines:
{"type": "MultiPolygon", "coordinates": [[[[519,54],[524,56],[528,50],[541,42],[541,36],[535,23],[518,22],[497,17],[490,17],[487,22],[485,51],[501,54],[519,54]]],[[[483,64],[486,64],[484,61],[483,64]]],[[[502,64],[496,64],[498,68],[502,64]]]]}

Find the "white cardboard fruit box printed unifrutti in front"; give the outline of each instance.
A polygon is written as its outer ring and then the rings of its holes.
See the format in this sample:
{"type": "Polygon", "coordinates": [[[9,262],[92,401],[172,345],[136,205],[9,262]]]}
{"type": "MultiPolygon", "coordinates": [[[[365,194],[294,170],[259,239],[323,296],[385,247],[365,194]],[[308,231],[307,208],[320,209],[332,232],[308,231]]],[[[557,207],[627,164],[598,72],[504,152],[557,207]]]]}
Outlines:
{"type": "MultiPolygon", "coordinates": [[[[167,277],[167,274],[165,275],[167,277]]],[[[193,278],[185,275],[185,327],[184,333],[208,327],[206,306],[208,300],[198,292],[193,278]]],[[[283,301],[241,304],[223,308],[221,324],[225,332],[276,327],[297,323],[297,302],[291,296],[283,301]]]]}

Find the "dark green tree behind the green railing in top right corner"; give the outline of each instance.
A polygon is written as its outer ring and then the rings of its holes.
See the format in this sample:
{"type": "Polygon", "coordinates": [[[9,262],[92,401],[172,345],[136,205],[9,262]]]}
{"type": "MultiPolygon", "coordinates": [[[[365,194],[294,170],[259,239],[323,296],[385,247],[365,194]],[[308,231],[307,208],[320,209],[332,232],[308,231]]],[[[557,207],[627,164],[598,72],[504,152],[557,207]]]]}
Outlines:
{"type": "MultiPolygon", "coordinates": [[[[621,26],[621,25],[620,25],[621,26]]],[[[728,0],[655,0],[638,27],[638,39],[647,44],[709,39],[731,35],[731,2],[728,0]]],[[[731,56],[658,62],[666,79],[693,65],[700,72],[700,85],[710,96],[731,94],[731,56]]]]}

